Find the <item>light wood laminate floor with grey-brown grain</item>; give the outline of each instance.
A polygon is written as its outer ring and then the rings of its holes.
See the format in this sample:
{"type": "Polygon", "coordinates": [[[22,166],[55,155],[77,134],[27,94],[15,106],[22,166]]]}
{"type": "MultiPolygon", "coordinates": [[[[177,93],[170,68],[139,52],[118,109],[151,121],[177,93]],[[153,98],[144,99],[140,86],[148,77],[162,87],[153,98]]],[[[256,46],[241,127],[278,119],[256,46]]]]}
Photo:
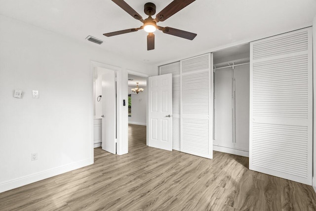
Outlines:
{"type": "Polygon", "coordinates": [[[312,186],[248,169],[248,158],[205,159],[146,146],[129,125],[129,153],[94,150],[94,164],[0,193],[1,211],[316,211],[312,186]]]}

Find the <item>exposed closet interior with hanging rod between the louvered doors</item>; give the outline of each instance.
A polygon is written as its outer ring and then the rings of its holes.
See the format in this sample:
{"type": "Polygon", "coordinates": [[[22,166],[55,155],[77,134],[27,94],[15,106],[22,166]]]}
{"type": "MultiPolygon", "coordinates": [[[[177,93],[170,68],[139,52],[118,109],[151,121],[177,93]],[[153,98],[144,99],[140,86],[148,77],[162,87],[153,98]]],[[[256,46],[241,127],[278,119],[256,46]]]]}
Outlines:
{"type": "Polygon", "coordinates": [[[249,157],[249,44],[213,53],[213,150],[249,157]]]}

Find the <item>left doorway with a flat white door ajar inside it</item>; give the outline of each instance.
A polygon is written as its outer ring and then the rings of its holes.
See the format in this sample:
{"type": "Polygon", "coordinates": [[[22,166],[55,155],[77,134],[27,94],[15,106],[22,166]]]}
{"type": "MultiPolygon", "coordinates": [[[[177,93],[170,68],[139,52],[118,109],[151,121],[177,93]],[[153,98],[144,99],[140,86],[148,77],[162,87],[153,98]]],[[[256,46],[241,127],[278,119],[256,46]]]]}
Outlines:
{"type": "Polygon", "coordinates": [[[112,154],[120,154],[122,107],[118,104],[121,88],[121,69],[111,65],[91,61],[91,138],[93,148],[102,149],[112,154]],[[117,83],[118,82],[118,83],[117,83]]]}

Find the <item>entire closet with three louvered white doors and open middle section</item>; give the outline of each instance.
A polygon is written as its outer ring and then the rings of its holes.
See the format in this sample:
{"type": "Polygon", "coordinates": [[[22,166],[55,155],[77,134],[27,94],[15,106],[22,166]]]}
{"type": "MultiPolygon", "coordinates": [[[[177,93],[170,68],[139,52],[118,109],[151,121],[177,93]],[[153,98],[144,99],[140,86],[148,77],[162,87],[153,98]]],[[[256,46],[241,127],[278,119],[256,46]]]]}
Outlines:
{"type": "Polygon", "coordinates": [[[312,184],[312,28],[159,67],[173,75],[173,149],[249,157],[249,169],[312,184]]]}

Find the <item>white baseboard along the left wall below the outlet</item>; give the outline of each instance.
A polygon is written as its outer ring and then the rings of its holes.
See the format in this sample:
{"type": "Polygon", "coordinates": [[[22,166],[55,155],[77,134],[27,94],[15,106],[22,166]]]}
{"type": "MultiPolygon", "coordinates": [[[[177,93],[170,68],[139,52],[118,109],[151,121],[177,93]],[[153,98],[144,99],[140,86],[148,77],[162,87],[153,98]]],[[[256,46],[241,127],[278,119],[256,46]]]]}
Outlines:
{"type": "Polygon", "coordinates": [[[35,173],[35,174],[27,175],[24,177],[20,177],[17,179],[13,179],[11,181],[3,182],[3,183],[0,183],[0,193],[17,188],[17,187],[21,187],[23,185],[27,185],[33,182],[37,182],[42,179],[56,176],[58,174],[65,173],[67,171],[89,166],[91,164],[93,164],[93,159],[87,159],[87,160],[79,161],[77,163],[69,164],[69,165],[58,167],[55,169],[41,171],[39,173],[35,173]]]}

